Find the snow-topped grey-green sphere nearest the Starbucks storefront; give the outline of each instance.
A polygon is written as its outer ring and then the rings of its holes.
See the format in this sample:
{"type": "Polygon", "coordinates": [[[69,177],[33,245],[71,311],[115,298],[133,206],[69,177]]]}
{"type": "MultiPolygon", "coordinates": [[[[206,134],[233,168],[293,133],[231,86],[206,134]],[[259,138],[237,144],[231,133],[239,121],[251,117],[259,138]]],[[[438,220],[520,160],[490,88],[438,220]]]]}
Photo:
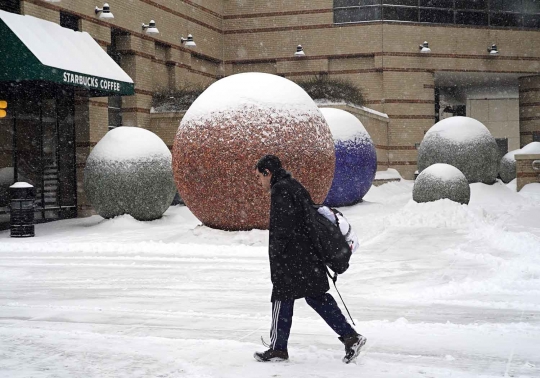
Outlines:
{"type": "Polygon", "coordinates": [[[130,214],[161,218],[176,193],[171,152],[151,131],[117,127],[94,147],[84,169],[84,190],[103,218],[130,214]]]}

